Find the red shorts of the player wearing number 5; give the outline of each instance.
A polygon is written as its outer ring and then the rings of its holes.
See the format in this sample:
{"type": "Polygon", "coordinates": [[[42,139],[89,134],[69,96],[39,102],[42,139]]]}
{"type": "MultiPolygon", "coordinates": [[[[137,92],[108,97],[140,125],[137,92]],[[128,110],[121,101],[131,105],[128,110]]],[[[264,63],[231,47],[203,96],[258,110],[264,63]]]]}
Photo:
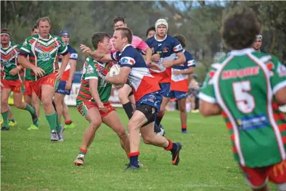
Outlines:
{"type": "Polygon", "coordinates": [[[276,184],[286,183],[286,160],[262,168],[248,168],[241,165],[240,168],[252,188],[263,186],[267,179],[276,184]]]}

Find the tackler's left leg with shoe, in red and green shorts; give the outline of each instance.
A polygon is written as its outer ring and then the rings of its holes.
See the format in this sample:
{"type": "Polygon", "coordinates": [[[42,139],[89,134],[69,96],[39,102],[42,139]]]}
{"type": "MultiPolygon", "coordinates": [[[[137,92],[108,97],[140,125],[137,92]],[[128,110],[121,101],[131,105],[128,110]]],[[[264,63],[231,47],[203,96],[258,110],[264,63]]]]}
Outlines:
{"type": "Polygon", "coordinates": [[[79,154],[74,162],[75,165],[82,166],[86,153],[88,153],[88,148],[94,140],[95,132],[101,126],[102,120],[96,104],[88,105],[88,107],[86,107],[86,105],[83,103],[83,105],[79,107],[79,112],[86,117],[86,120],[90,122],[90,125],[88,125],[88,128],[86,128],[86,131],[83,134],[81,147],[79,147],[79,154]]]}

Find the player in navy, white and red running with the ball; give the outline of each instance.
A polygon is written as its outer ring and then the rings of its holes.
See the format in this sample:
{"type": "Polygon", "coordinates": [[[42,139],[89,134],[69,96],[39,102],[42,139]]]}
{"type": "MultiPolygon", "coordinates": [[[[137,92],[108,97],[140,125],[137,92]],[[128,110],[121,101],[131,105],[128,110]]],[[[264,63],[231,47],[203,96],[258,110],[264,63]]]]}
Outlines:
{"type": "Polygon", "coordinates": [[[113,54],[103,54],[99,51],[90,51],[84,45],[81,49],[84,53],[89,53],[93,58],[118,61],[121,68],[118,75],[110,77],[109,73],[105,76],[105,81],[112,84],[128,83],[132,87],[135,97],[136,108],[133,116],[128,123],[129,139],[130,139],[130,159],[126,170],[139,169],[138,156],[140,155],[140,134],[146,144],[153,144],[157,147],[163,147],[166,151],[172,153],[172,164],[179,164],[179,152],[181,151],[181,143],[172,142],[158,136],[154,133],[155,115],[159,111],[162,97],[159,94],[159,84],[150,74],[148,66],[142,55],[131,46],[132,32],[127,27],[118,27],[114,31],[113,36],[114,48],[118,49],[113,54]]]}

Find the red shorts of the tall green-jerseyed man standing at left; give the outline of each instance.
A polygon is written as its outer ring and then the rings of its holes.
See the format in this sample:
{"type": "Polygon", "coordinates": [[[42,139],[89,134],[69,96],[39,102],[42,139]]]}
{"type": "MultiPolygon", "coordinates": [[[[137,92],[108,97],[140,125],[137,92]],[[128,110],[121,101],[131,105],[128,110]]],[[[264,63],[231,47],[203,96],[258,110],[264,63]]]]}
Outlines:
{"type": "Polygon", "coordinates": [[[55,90],[57,90],[57,86],[59,85],[59,80],[55,77],[56,73],[51,73],[50,75],[41,77],[36,82],[34,82],[33,90],[37,94],[37,96],[42,99],[42,85],[53,86],[55,90]]]}

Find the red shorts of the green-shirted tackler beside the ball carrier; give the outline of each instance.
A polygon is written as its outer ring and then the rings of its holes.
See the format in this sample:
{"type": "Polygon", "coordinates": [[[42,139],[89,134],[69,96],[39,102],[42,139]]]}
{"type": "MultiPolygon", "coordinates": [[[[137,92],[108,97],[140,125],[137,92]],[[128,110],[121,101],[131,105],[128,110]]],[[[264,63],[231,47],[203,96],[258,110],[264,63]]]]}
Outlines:
{"type": "MultiPolygon", "coordinates": [[[[112,105],[109,102],[103,103],[103,105],[105,107],[107,107],[108,111],[107,112],[99,111],[99,114],[101,114],[101,118],[104,118],[110,112],[115,111],[114,107],[112,107],[112,105]]],[[[90,110],[94,107],[98,108],[99,106],[97,106],[97,104],[95,102],[84,101],[83,103],[81,103],[80,105],[77,106],[77,110],[79,111],[79,113],[82,116],[84,116],[86,118],[86,114],[88,114],[88,110],[90,110]]]]}

